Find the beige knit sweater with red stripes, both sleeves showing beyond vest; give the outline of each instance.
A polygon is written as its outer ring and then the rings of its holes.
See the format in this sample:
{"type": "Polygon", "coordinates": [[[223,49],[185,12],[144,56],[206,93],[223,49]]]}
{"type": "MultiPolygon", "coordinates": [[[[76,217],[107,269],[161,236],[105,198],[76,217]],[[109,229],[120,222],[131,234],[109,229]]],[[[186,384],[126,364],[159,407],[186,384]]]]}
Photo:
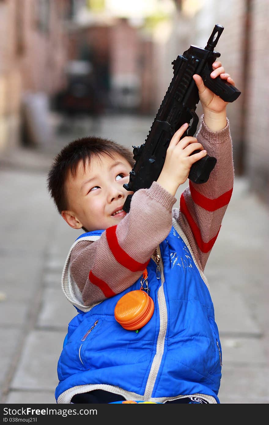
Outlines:
{"type": "Polygon", "coordinates": [[[147,266],[156,247],[167,237],[172,217],[186,235],[201,270],[218,236],[233,188],[232,140],[227,126],[212,132],[201,117],[196,135],[207,154],[217,159],[206,183],[189,187],[176,198],[156,181],[133,194],[130,212],[96,241],[81,241],[70,258],[73,281],[85,306],[93,306],[129,288],[147,266]]]}

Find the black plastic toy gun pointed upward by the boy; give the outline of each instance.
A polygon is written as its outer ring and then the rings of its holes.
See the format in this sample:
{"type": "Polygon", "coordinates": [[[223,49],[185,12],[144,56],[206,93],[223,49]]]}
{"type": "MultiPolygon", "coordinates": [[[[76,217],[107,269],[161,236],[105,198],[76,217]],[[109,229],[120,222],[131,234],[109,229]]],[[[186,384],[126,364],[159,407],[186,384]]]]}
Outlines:
{"type": "MultiPolygon", "coordinates": [[[[136,192],[142,188],[149,188],[152,182],[158,179],[170,140],[181,125],[185,122],[189,124],[182,138],[194,135],[199,122],[195,109],[200,100],[198,88],[193,80],[194,74],[200,75],[204,85],[225,102],[234,102],[241,94],[237,88],[221,77],[215,79],[210,77],[213,62],[221,56],[214,51],[214,48],[223,30],[223,26],[216,24],[204,49],[191,45],[182,56],[179,55],[172,62],[173,79],[150,127],[147,139],[144,144],[133,146],[133,159],[136,162],[130,171],[129,183],[123,185],[126,190],[136,192]]],[[[196,152],[198,150],[193,153],[196,152]]],[[[205,183],[215,164],[214,157],[204,156],[192,165],[188,178],[194,183],[205,183]]],[[[125,200],[123,205],[125,212],[130,210],[132,196],[128,195],[125,200]]]]}

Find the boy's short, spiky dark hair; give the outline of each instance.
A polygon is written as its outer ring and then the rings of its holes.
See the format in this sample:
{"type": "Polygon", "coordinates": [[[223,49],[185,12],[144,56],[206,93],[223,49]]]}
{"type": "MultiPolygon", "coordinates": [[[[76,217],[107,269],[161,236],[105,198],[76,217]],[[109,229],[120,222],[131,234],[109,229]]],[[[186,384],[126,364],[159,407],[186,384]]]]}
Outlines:
{"type": "Polygon", "coordinates": [[[131,167],[135,163],[133,154],[127,147],[112,140],[95,136],[83,137],[70,142],[55,157],[48,172],[47,187],[59,214],[68,210],[65,188],[68,173],[71,172],[71,175],[75,177],[79,161],[82,161],[85,170],[87,160],[90,163],[92,157],[98,156],[100,158],[102,154],[111,158],[115,154],[119,154],[129,162],[131,167]]]}

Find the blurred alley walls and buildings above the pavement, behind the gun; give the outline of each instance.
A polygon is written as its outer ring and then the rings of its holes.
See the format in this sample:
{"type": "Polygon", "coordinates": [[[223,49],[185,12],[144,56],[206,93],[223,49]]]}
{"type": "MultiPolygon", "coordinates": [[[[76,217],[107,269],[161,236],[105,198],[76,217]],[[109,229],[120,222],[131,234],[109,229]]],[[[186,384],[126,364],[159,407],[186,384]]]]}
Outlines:
{"type": "Polygon", "coordinates": [[[215,23],[242,92],[229,105],[235,170],[268,202],[268,1],[1,0],[0,150],[46,149],[83,116],[153,116],[171,61],[204,47],[215,23]]]}

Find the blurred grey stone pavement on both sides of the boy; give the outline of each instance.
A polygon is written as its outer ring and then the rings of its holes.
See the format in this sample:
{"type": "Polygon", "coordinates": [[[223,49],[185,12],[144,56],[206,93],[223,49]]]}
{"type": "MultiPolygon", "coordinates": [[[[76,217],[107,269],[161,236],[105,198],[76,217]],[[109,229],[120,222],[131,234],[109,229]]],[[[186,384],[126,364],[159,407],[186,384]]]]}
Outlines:
{"type": "MultiPolygon", "coordinates": [[[[152,121],[110,116],[98,128],[80,131],[131,146],[143,143],[152,121]]],[[[51,146],[20,147],[0,159],[1,403],[55,403],[57,360],[76,314],[60,279],[69,248],[81,233],[57,214],[46,173],[54,154],[72,138],[69,131],[51,146]]],[[[249,191],[245,178],[235,178],[205,269],[223,349],[222,403],[269,402],[268,241],[268,207],[249,191]]]]}

